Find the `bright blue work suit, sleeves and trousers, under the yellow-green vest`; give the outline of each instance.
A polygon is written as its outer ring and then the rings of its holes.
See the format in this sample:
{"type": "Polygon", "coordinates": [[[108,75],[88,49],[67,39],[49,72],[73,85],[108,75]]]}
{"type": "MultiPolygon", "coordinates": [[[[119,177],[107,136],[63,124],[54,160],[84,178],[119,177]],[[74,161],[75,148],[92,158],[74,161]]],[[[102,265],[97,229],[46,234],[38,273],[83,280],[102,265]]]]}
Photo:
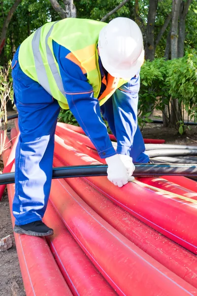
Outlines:
{"type": "MultiPolygon", "coordinates": [[[[53,50],[70,111],[98,150],[101,158],[116,154],[101,118],[108,121],[117,139],[117,152],[129,154],[133,162],[148,162],[145,146],[137,127],[139,74],[116,90],[99,106],[87,75],[66,58],[69,50],[53,41],[53,50]]],[[[47,206],[54,152],[54,134],[60,111],[58,101],[28,77],[18,62],[19,48],[12,61],[14,101],[18,111],[20,137],[15,158],[15,196],[13,215],[16,225],[41,220],[47,206]]],[[[102,84],[106,88],[105,71],[99,60],[102,84]]]]}

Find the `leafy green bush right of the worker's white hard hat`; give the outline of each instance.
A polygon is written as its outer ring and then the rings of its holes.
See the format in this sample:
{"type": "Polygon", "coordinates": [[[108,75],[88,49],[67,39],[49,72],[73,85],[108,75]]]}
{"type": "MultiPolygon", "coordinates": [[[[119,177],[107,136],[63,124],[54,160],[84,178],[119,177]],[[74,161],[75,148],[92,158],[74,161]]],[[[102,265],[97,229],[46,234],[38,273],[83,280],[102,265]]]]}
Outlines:
{"type": "MultiPolygon", "coordinates": [[[[144,124],[148,112],[164,110],[170,99],[178,99],[188,115],[197,121],[197,52],[186,53],[181,59],[146,61],[141,68],[139,91],[139,124],[144,124]]],[[[148,116],[147,116],[148,114],[148,116]]],[[[177,123],[180,134],[186,130],[183,121],[177,123]]]]}

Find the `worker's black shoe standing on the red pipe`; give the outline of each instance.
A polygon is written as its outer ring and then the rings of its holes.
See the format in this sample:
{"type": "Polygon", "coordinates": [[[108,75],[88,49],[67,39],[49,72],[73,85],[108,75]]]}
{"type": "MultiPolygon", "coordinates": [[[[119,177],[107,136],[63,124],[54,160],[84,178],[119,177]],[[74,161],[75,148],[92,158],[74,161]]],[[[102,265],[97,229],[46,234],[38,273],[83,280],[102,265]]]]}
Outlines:
{"type": "Polygon", "coordinates": [[[53,229],[46,226],[42,221],[34,221],[25,225],[14,225],[14,232],[32,236],[53,235],[53,229]]]}

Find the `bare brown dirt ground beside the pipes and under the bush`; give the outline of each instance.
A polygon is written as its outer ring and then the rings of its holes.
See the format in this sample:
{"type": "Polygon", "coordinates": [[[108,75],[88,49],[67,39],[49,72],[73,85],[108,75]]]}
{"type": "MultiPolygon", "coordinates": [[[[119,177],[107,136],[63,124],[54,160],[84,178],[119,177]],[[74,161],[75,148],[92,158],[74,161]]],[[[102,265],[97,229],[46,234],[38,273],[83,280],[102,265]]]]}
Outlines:
{"type": "MultiPolygon", "coordinates": [[[[9,112],[8,115],[14,113],[15,112],[9,112]]],[[[157,113],[156,115],[160,116],[161,114],[157,113]]],[[[11,128],[12,126],[14,126],[14,120],[8,122],[8,128],[11,128]]],[[[186,135],[180,136],[175,129],[164,128],[162,124],[149,123],[143,128],[142,134],[144,138],[164,139],[166,144],[197,146],[197,126],[192,126],[191,131],[188,130],[186,135]]],[[[2,164],[0,170],[2,171],[2,164]]],[[[5,191],[2,202],[0,202],[0,239],[8,234],[11,234],[13,237],[8,197],[7,192],[5,191]]],[[[25,295],[16,247],[14,244],[11,249],[0,252],[0,296],[25,295]]]]}

